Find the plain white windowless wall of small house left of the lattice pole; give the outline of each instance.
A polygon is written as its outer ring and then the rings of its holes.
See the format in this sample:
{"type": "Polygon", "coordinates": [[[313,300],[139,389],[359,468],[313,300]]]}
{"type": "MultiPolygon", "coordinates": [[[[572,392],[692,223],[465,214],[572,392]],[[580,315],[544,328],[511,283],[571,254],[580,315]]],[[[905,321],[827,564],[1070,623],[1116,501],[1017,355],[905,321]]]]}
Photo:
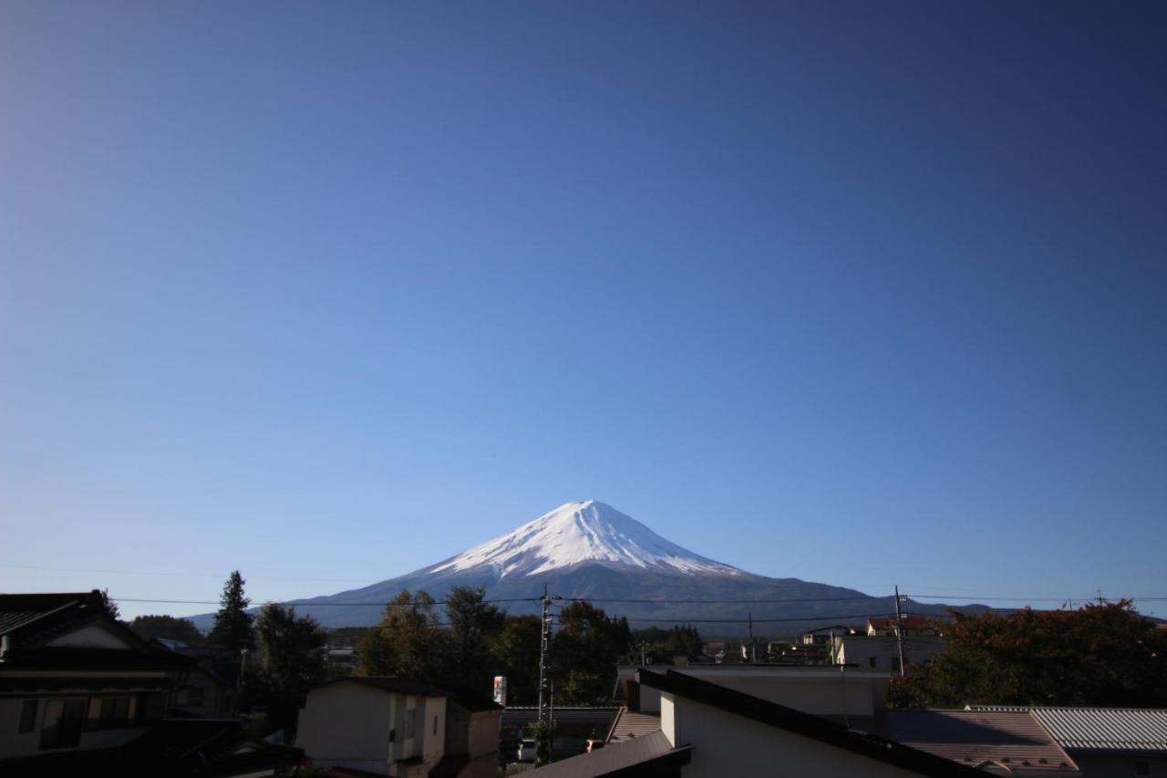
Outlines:
{"type": "Polygon", "coordinates": [[[300,710],[296,748],[321,766],[387,774],[390,702],[394,696],[359,683],[313,689],[300,710]]]}

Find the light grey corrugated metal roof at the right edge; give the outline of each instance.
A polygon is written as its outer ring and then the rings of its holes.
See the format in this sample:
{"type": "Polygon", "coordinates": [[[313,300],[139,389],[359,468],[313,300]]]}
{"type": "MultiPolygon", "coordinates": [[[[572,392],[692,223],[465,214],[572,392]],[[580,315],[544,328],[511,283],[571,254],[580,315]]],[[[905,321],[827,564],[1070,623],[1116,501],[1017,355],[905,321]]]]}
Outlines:
{"type": "MultiPolygon", "coordinates": [[[[1002,710],[970,706],[970,710],[1002,710]]],[[[1167,710],[1153,708],[1012,708],[1028,710],[1063,749],[1167,751],[1167,710]]]]}

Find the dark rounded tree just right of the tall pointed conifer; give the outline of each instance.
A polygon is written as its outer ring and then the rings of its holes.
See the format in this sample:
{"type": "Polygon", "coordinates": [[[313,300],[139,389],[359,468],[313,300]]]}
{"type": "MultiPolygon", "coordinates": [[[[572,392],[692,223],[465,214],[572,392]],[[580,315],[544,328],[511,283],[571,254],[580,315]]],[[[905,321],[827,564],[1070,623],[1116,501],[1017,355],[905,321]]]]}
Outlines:
{"type": "Polygon", "coordinates": [[[267,709],[267,718],[295,736],[296,716],[308,690],[327,674],[326,634],[310,616],[296,617],[295,607],[268,603],[256,621],[259,662],[251,679],[252,702],[267,709]]]}

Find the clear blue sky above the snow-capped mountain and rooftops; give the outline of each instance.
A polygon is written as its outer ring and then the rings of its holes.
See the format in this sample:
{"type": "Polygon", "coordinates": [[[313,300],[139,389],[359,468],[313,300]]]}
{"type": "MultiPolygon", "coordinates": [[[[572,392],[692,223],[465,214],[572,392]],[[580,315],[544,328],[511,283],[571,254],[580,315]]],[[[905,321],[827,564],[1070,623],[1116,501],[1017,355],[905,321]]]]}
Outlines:
{"type": "Polygon", "coordinates": [[[873,593],[1167,595],[1165,39],[2,0],[0,590],[330,593],[591,496],[873,593]]]}

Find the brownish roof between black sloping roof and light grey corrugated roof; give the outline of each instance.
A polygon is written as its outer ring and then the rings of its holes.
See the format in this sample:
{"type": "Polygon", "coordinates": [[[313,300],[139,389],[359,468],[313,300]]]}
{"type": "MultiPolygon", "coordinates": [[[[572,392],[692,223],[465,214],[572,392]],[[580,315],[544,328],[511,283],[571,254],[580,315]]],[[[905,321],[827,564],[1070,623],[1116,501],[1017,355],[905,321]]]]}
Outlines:
{"type": "Polygon", "coordinates": [[[893,710],[888,737],[957,764],[1009,773],[1077,776],[1077,765],[1025,711],[893,710]]]}

